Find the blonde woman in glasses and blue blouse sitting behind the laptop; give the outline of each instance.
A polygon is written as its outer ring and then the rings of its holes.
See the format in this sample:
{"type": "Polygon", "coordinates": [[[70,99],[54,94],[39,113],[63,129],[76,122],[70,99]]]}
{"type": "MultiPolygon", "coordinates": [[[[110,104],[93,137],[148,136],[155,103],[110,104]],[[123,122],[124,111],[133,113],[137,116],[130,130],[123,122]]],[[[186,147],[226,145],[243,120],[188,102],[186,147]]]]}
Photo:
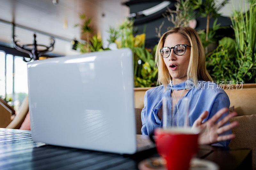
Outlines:
{"type": "MultiPolygon", "coordinates": [[[[229,119],[236,113],[228,114],[228,95],[212,82],[205,68],[204,48],[196,31],[178,27],[164,33],[157,45],[156,65],[160,86],[145,93],[141,133],[149,135],[154,128],[162,126],[164,96],[175,98],[178,107],[179,100],[187,97],[189,125],[201,129],[199,144],[228,146],[235,137],[231,129],[238,125],[238,122],[229,124],[229,119]],[[193,82],[193,88],[187,88],[187,80],[193,82]]],[[[179,117],[175,109],[174,119],[179,126],[184,123],[184,116],[179,117]]]]}

